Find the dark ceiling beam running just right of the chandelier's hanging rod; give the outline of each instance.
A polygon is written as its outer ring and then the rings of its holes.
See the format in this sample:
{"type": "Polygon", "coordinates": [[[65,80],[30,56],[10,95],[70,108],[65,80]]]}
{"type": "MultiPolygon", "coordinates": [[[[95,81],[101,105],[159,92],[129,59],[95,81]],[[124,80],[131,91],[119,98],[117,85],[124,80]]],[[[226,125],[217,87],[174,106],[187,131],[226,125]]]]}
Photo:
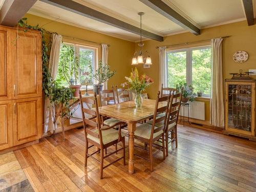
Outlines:
{"type": "Polygon", "coordinates": [[[189,30],[191,33],[194,33],[195,35],[200,35],[199,28],[191,24],[186,18],[181,16],[179,13],[177,13],[174,9],[170,8],[161,0],[139,0],[139,1],[147,5],[148,7],[154,9],[161,15],[172,20],[172,22],[178,24],[182,28],[189,30]]]}

